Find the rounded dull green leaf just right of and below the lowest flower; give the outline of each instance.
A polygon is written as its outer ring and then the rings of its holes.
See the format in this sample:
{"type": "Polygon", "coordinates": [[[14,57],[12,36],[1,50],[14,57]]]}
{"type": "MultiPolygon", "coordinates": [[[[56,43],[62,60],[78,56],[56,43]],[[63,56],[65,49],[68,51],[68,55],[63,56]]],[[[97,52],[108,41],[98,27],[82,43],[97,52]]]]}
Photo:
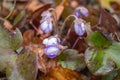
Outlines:
{"type": "Polygon", "coordinates": [[[72,70],[82,70],[85,68],[83,56],[74,49],[66,49],[58,56],[62,67],[72,70]]]}

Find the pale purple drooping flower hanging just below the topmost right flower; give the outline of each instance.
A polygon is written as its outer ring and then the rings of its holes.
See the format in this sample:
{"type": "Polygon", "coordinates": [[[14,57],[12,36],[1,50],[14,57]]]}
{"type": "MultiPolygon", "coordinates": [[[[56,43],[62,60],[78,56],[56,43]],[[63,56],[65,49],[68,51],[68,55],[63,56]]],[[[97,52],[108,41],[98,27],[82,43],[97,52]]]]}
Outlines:
{"type": "Polygon", "coordinates": [[[83,36],[84,33],[86,32],[84,26],[85,26],[85,23],[83,19],[76,19],[74,21],[74,30],[76,34],[78,34],[79,36],[83,36]]]}

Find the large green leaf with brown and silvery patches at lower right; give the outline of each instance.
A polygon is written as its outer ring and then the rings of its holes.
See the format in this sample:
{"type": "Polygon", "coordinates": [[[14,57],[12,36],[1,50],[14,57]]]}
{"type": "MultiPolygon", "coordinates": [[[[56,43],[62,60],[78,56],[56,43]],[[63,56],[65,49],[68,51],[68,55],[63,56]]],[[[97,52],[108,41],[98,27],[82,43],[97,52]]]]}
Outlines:
{"type": "Polygon", "coordinates": [[[105,75],[120,68],[120,43],[113,42],[106,49],[88,48],[85,51],[85,62],[95,75],[105,75]],[[116,67],[115,67],[116,66],[116,67]]]}

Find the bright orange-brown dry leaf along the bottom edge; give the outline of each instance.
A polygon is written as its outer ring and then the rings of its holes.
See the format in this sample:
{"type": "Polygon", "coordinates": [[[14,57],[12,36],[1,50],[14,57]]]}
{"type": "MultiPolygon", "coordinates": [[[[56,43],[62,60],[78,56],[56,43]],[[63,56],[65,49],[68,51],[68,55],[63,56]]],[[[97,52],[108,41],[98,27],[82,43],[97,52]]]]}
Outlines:
{"type": "Polygon", "coordinates": [[[40,76],[39,80],[87,80],[87,78],[73,70],[59,67],[46,75],[40,76]]]}

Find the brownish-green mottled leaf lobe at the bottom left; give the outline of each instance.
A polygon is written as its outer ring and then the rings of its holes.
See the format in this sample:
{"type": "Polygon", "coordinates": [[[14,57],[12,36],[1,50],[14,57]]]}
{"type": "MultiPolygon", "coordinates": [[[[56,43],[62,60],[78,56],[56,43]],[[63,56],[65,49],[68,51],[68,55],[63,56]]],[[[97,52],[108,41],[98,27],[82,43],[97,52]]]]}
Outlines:
{"type": "Polygon", "coordinates": [[[35,53],[29,50],[24,51],[18,55],[16,65],[23,80],[36,80],[38,68],[35,53]]]}

